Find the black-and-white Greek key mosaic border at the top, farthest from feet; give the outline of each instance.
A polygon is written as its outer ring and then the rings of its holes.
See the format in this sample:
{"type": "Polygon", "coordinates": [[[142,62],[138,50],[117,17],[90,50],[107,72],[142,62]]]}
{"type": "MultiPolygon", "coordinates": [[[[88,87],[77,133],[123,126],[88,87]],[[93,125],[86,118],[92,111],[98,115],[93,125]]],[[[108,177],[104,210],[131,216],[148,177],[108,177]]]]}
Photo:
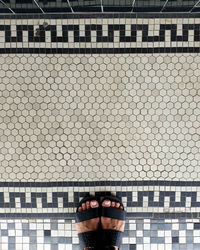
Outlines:
{"type": "Polygon", "coordinates": [[[58,20],[44,15],[37,23],[29,17],[8,20],[2,16],[0,53],[198,53],[200,19],[189,17],[150,21],[138,16],[102,19],[96,15],[58,20]]]}

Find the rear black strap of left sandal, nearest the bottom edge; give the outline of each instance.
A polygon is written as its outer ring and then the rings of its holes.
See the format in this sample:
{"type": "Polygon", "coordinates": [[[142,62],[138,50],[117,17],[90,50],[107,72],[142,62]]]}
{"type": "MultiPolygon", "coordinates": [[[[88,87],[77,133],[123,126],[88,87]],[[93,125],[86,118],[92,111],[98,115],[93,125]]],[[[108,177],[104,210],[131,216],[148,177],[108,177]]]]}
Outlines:
{"type": "Polygon", "coordinates": [[[98,246],[98,231],[90,231],[78,234],[79,243],[81,249],[85,247],[96,247],[98,246]]]}

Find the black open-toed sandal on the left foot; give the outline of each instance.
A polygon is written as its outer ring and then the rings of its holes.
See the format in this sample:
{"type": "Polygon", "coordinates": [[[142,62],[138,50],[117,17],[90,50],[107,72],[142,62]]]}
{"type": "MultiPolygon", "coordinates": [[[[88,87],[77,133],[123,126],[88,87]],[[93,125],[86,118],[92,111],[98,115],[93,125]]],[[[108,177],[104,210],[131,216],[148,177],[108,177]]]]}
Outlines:
{"type": "MultiPolygon", "coordinates": [[[[91,196],[84,197],[80,201],[80,203],[77,207],[76,215],[75,215],[75,222],[78,223],[78,222],[82,222],[85,220],[91,220],[93,218],[98,218],[98,217],[100,217],[100,201],[98,200],[98,198],[91,197],[91,196]],[[99,207],[78,212],[78,208],[82,205],[82,203],[85,203],[86,201],[91,201],[91,200],[98,201],[99,207]]],[[[99,222],[100,222],[100,220],[99,220],[99,222]]],[[[78,238],[79,238],[79,243],[80,243],[81,249],[88,248],[88,247],[94,247],[95,249],[98,248],[99,227],[96,231],[90,231],[90,232],[78,234],[78,238]]]]}

